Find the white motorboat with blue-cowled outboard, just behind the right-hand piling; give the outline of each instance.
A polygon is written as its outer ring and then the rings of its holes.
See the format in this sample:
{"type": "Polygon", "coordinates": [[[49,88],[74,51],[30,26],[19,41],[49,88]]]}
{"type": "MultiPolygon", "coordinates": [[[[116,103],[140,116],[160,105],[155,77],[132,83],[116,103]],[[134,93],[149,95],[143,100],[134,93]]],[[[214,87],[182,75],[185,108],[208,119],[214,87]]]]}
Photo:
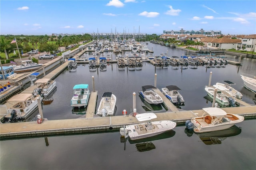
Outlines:
{"type": "MultiPolygon", "coordinates": [[[[213,99],[214,98],[214,90],[215,90],[215,88],[214,87],[205,86],[204,89],[207,92],[208,96],[213,99]]],[[[226,106],[226,107],[229,106],[228,96],[225,95],[224,93],[222,93],[220,90],[217,90],[216,102],[218,102],[221,105],[226,106]]]]}

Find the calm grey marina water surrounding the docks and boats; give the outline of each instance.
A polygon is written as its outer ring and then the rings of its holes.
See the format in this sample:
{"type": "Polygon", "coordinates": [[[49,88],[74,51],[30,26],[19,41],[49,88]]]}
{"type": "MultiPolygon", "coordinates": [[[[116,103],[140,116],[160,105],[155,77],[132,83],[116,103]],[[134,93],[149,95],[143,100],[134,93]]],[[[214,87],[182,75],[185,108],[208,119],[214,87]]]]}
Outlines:
{"type": "MultiPolygon", "coordinates": [[[[168,53],[169,56],[181,56],[187,51],[170,49],[158,44],[148,44],[155,51],[153,55],[168,53]],[[168,52],[167,52],[168,51],[168,52]]],[[[105,55],[111,55],[106,53],[105,55]]],[[[86,54],[87,57],[92,55],[86,54]]],[[[116,57],[114,54],[112,57],[116,57]]],[[[229,60],[239,61],[239,56],[226,55],[229,60]]],[[[141,70],[130,70],[126,67],[120,70],[116,64],[108,65],[107,71],[90,71],[88,65],[79,65],[76,70],[68,70],[55,80],[57,91],[52,96],[52,103],[44,105],[44,118],[76,119],[81,115],[72,113],[70,99],[72,87],[75,84],[89,84],[92,90],[94,76],[95,90],[98,91],[98,104],[102,93],[113,92],[117,97],[116,115],[122,115],[122,110],[128,112],[132,108],[132,93],[136,93],[136,108],[138,113],[145,113],[144,103],[138,92],[143,85],[154,85],[154,75],[157,74],[156,86],[161,89],[167,85],[180,87],[185,105],[184,110],[211,107],[212,103],[204,97],[207,93],[204,86],[208,85],[210,71],[212,83],[230,80],[235,89],[243,94],[243,100],[255,104],[255,94],[244,89],[240,74],[256,75],[256,60],[242,58],[242,66],[226,65],[220,68],[199,66],[197,69],[173,69],[154,67],[144,62],[141,70]]],[[[157,112],[165,112],[162,107],[157,112]]],[[[237,124],[241,132],[222,136],[220,144],[207,144],[197,134],[185,133],[185,127],[176,127],[161,139],[148,141],[148,150],[142,145],[145,141],[130,143],[120,138],[119,132],[81,134],[75,136],[53,136],[47,138],[31,138],[22,140],[6,140],[0,142],[1,170],[131,170],[131,169],[225,169],[250,170],[256,167],[256,120],[246,120],[237,124]],[[189,137],[190,136],[190,137],[189,137]],[[141,152],[144,150],[144,152],[141,152]]],[[[228,134],[231,132],[228,132],[228,134]]],[[[218,134],[220,135],[220,134],[218,134]]],[[[217,136],[218,136],[217,135],[217,136]]],[[[214,139],[212,139],[214,141],[214,139]]]]}

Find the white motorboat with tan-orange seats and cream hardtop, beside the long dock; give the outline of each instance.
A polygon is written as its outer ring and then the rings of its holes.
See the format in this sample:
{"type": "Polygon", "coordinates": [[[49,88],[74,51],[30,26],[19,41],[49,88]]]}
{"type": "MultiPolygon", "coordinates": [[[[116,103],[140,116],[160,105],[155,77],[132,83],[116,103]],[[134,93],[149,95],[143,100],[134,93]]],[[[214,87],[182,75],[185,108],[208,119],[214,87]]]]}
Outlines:
{"type": "Polygon", "coordinates": [[[244,121],[243,116],[226,113],[218,107],[207,107],[203,110],[201,117],[192,118],[185,123],[186,127],[193,129],[195,133],[224,130],[244,121]]]}

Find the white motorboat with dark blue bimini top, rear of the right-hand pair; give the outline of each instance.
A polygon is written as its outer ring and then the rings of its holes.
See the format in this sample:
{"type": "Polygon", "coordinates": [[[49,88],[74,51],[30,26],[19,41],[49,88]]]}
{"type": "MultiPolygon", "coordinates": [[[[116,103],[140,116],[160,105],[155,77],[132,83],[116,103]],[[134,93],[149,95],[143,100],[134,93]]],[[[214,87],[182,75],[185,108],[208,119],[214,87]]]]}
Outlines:
{"type": "Polygon", "coordinates": [[[231,85],[232,84],[234,85],[235,83],[228,81],[228,80],[225,80],[224,82],[225,83],[216,83],[215,85],[213,85],[213,87],[216,87],[217,89],[219,89],[221,91],[225,91],[232,97],[236,97],[239,100],[242,100],[243,95],[239,91],[237,91],[236,89],[231,87],[231,85]]]}

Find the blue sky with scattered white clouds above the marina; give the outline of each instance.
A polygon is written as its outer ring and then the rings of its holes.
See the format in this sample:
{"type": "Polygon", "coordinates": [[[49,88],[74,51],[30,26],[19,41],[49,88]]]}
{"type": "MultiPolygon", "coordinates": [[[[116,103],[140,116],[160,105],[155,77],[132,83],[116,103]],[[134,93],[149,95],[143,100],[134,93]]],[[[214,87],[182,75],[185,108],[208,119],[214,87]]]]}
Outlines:
{"type": "Polygon", "coordinates": [[[1,35],[163,34],[163,30],[256,34],[255,0],[1,0],[1,35]],[[139,30],[140,28],[140,30],[139,30]]]}

